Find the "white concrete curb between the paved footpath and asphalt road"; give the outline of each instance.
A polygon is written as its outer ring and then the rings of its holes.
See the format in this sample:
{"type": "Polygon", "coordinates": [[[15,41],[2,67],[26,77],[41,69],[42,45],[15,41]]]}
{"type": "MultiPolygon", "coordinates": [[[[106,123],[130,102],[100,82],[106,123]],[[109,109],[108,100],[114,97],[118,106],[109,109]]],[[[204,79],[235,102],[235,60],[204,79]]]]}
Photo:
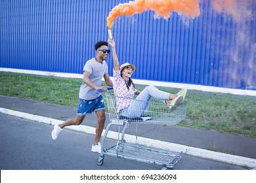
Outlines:
{"type": "MultiPolygon", "coordinates": [[[[9,114],[11,116],[16,116],[18,118],[25,118],[27,120],[32,120],[35,122],[40,122],[40,123],[49,124],[49,125],[60,124],[63,122],[62,120],[56,120],[53,118],[37,116],[37,115],[33,115],[33,114],[28,114],[26,112],[19,112],[16,110],[10,110],[10,109],[1,108],[1,107],[0,107],[0,112],[3,114],[9,114]]],[[[72,129],[75,131],[81,131],[83,133],[89,133],[89,134],[95,135],[95,127],[90,127],[87,125],[70,126],[70,127],[66,127],[66,129],[72,129]]],[[[105,132],[105,130],[103,131],[102,134],[104,134],[104,132],[105,132]]],[[[116,140],[116,139],[118,139],[119,135],[120,134],[115,131],[109,131],[107,137],[110,139],[116,140]]],[[[148,138],[144,138],[144,137],[137,137],[137,140],[136,140],[134,135],[128,135],[128,134],[125,134],[125,141],[132,142],[132,143],[137,142],[138,144],[143,144],[146,146],[162,148],[162,149],[171,150],[171,151],[175,151],[175,152],[182,152],[182,153],[188,154],[190,156],[198,156],[200,158],[213,159],[216,161],[222,161],[224,163],[230,163],[233,165],[249,167],[251,169],[256,168],[256,159],[252,159],[252,158],[245,158],[242,156],[234,156],[234,155],[230,155],[230,154],[224,154],[221,152],[213,152],[210,150],[194,148],[191,146],[184,146],[182,144],[174,144],[171,142],[164,142],[164,141],[159,141],[159,140],[154,140],[154,139],[148,139],[148,138]]]]}

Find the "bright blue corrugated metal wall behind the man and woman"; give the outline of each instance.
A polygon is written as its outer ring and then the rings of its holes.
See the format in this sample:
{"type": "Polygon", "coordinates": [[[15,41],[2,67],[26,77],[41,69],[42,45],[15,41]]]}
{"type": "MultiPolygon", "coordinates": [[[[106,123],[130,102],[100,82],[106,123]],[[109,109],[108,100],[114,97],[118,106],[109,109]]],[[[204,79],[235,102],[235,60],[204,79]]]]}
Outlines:
{"type": "MultiPolygon", "coordinates": [[[[0,67],[82,73],[95,42],[108,38],[108,13],[127,2],[1,0],[0,67]]],[[[210,0],[194,20],[121,16],[112,26],[119,61],[137,66],[133,78],[255,90],[256,3],[248,8],[252,18],[240,22],[210,0]]],[[[107,61],[112,75],[112,56],[107,61]]]]}

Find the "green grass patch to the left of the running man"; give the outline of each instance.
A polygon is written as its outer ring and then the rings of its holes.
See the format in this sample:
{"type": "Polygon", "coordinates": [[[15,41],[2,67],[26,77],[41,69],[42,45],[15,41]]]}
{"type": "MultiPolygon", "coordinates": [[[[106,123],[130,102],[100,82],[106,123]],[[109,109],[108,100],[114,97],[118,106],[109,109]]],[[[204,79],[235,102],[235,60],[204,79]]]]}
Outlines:
{"type": "Polygon", "coordinates": [[[0,94],[22,99],[33,99],[69,107],[77,106],[80,80],[56,77],[0,74],[0,94]]]}

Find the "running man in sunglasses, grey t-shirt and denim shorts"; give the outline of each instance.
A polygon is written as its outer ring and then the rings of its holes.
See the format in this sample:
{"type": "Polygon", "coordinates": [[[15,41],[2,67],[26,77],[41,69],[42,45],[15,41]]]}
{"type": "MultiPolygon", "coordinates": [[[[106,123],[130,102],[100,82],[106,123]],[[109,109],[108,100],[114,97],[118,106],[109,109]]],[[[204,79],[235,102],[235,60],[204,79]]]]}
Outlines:
{"type": "Polygon", "coordinates": [[[81,84],[79,91],[79,103],[76,117],[68,119],[62,124],[54,125],[52,137],[53,140],[56,140],[58,133],[60,133],[64,127],[68,125],[80,125],[87,114],[95,112],[98,118],[98,124],[96,125],[95,142],[91,150],[100,153],[100,136],[104,128],[106,116],[102,95],[97,92],[97,90],[107,90],[106,87],[101,86],[103,77],[108,86],[113,86],[113,84],[108,75],[108,65],[105,61],[110,53],[110,50],[108,50],[108,42],[96,42],[95,50],[96,57],[87,61],[83,67],[83,84],[81,84]]]}

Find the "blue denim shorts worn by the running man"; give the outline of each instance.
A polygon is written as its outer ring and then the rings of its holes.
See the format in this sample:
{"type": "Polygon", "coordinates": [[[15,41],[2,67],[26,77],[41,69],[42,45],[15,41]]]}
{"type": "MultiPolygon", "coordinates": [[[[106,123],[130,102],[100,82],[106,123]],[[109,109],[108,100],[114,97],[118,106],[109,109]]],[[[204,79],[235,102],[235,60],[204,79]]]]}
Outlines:
{"type": "Polygon", "coordinates": [[[88,100],[88,101],[79,98],[76,115],[85,116],[87,114],[91,114],[92,112],[96,112],[98,110],[105,110],[105,105],[104,105],[102,95],[98,96],[98,98],[96,99],[88,100]]]}

